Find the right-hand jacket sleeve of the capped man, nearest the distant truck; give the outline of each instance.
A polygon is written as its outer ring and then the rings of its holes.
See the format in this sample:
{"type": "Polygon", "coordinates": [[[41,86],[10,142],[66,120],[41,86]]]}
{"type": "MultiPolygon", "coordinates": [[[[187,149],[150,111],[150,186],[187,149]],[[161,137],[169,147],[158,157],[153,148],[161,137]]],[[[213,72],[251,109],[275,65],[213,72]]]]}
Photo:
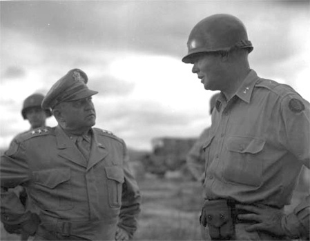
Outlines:
{"type": "Polygon", "coordinates": [[[124,177],[125,181],[123,183],[123,193],[122,193],[122,207],[119,213],[119,223],[118,226],[125,229],[130,235],[137,230],[137,218],[141,211],[141,195],[139,192],[139,187],[133,174],[129,167],[129,157],[127,154],[126,145],[124,145],[124,177]]]}

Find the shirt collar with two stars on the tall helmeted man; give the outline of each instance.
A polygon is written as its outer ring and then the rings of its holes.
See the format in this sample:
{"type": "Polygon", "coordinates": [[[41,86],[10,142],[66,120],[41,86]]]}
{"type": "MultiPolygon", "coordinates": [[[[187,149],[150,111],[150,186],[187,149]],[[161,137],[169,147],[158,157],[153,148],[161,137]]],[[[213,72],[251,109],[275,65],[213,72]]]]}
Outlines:
{"type": "MultiPolygon", "coordinates": [[[[234,96],[238,96],[238,98],[240,98],[242,101],[250,103],[253,89],[258,79],[258,74],[256,74],[254,70],[250,70],[249,74],[246,76],[246,78],[244,78],[244,81],[242,82],[234,96]]],[[[226,102],[226,98],[221,92],[220,97],[215,103],[215,108],[217,109],[217,112],[220,112],[223,102],[226,102]]]]}

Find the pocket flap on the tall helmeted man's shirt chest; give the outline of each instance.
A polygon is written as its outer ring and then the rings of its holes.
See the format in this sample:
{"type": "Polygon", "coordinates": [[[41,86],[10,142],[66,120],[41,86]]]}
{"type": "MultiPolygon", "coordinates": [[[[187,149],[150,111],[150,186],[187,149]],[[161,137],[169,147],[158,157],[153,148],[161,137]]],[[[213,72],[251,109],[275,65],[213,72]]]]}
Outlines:
{"type": "Polygon", "coordinates": [[[229,136],[226,146],[229,151],[256,154],[264,148],[265,140],[249,136],[229,136]]]}

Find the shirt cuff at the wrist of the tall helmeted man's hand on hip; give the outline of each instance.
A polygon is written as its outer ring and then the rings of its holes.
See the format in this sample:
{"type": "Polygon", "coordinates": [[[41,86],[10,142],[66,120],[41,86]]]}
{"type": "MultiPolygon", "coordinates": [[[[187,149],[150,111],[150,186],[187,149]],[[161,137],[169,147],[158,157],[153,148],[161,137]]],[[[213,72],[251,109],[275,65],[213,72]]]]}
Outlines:
{"type": "Polygon", "coordinates": [[[294,213],[289,213],[289,215],[282,218],[281,227],[289,238],[296,239],[300,237],[300,221],[294,213]]]}

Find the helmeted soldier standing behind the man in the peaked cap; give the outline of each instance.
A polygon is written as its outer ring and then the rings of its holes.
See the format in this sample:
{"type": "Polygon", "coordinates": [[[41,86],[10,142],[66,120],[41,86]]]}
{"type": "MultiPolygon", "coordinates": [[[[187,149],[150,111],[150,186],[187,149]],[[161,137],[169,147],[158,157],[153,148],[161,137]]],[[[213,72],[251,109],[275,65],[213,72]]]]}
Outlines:
{"type": "MultiPolygon", "coordinates": [[[[23,101],[21,116],[23,116],[24,120],[28,120],[30,124],[30,129],[26,132],[30,132],[32,129],[36,129],[38,127],[46,127],[46,118],[52,116],[50,109],[42,109],[41,103],[43,98],[43,94],[36,93],[31,94],[25,99],[25,101],[23,101]]],[[[19,133],[17,136],[20,136],[26,132],[19,133]]],[[[29,200],[27,191],[24,187],[17,186],[12,189],[12,191],[19,196],[23,206],[27,207],[27,209],[32,212],[36,211],[35,205],[31,202],[31,200],[29,200]]],[[[28,240],[28,237],[28,233],[21,232],[21,240],[28,240]]]]}

